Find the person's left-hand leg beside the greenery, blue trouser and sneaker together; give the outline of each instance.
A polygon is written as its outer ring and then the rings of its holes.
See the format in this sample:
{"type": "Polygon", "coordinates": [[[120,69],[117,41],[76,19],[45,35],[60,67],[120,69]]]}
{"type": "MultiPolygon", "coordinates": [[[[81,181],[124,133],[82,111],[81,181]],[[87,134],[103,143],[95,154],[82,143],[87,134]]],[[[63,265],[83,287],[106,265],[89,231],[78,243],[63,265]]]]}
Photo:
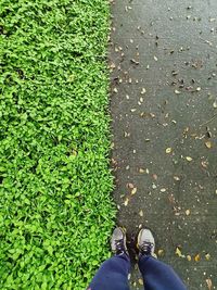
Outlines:
{"type": "Polygon", "coordinates": [[[88,290],[129,290],[130,260],[123,228],[113,231],[111,247],[115,255],[102,264],[88,290]]]}

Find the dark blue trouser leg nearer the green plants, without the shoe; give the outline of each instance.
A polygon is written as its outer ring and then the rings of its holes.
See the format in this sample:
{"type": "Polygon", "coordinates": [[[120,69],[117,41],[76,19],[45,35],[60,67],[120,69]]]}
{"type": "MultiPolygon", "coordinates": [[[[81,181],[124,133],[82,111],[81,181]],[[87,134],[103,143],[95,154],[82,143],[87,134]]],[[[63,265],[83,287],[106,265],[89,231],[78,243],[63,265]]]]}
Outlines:
{"type": "Polygon", "coordinates": [[[129,257],[126,254],[115,255],[102,264],[88,289],[129,290],[129,257]]]}

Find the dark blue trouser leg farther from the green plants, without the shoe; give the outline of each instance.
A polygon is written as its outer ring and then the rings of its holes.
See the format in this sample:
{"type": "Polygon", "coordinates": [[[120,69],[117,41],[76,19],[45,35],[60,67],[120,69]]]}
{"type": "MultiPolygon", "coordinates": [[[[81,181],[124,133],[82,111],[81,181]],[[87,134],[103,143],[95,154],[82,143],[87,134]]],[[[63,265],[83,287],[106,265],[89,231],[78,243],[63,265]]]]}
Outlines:
{"type": "Polygon", "coordinates": [[[142,256],[139,268],[145,290],[187,290],[174,269],[153,256],[142,256]]]}

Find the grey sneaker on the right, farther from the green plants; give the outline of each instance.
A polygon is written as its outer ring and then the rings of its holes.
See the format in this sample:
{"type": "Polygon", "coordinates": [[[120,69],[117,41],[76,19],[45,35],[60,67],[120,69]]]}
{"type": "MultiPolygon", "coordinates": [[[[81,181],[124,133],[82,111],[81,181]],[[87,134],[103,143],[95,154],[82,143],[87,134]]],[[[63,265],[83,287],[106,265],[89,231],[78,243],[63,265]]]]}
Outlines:
{"type": "Polygon", "coordinates": [[[154,255],[155,241],[150,229],[142,228],[140,230],[137,247],[140,255],[154,255]]]}

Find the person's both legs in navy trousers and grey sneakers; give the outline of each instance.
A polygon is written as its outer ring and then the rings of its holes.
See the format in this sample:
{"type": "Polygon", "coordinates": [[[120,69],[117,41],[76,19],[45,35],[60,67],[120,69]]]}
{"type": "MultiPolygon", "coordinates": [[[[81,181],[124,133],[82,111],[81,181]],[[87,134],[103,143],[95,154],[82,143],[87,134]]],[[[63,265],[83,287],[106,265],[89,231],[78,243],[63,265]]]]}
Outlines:
{"type": "MultiPolygon", "coordinates": [[[[187,290],[174,272],[163,262],[153,257],[154,238],[149,229],[142,229],[138,237],[139,268],[145,290],[187,290]]],[[[116,228],[112,238],[112,250],[115,255],[105,261],[88,290],[129,290],[128,274],[130,259],[126,247],[126,236],[122,228],[116,228]]]]}

